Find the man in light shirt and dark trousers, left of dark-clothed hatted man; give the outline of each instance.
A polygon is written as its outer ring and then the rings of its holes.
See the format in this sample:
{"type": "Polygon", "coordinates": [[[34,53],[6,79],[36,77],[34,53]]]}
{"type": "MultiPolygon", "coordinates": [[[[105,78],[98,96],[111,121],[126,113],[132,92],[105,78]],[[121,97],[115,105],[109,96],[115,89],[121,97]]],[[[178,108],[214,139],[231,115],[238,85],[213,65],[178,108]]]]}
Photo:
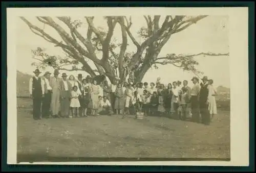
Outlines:
{"type": "Polygon", "coordinates": [[[191,103],[191,113],[192,113],[192,121],[199,122],[200,115],[199,115],[199,93],[200,93],[200,86],[199,86],[199,79],[197,77],[193,77],[191,79],[194,86],[191,88],[190,91],[190,103],[191,103]]]}

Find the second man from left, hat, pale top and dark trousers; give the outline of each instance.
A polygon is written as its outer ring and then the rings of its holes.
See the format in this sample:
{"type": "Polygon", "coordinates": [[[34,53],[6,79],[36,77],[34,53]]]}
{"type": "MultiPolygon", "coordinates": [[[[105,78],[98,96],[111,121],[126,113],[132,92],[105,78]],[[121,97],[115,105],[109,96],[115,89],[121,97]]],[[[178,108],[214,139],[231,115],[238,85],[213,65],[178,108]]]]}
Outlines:
{"type": "Polygon", "coordinates": [[[44,88],[45,88],[45,97],[42,99],[42,118],[49,118],[50,116],[50,106],[51,106],[51,96],[52,96],[52,87],[50,86],[50,75],[49,71],[45,72],[44,78],[44,88]]]}

